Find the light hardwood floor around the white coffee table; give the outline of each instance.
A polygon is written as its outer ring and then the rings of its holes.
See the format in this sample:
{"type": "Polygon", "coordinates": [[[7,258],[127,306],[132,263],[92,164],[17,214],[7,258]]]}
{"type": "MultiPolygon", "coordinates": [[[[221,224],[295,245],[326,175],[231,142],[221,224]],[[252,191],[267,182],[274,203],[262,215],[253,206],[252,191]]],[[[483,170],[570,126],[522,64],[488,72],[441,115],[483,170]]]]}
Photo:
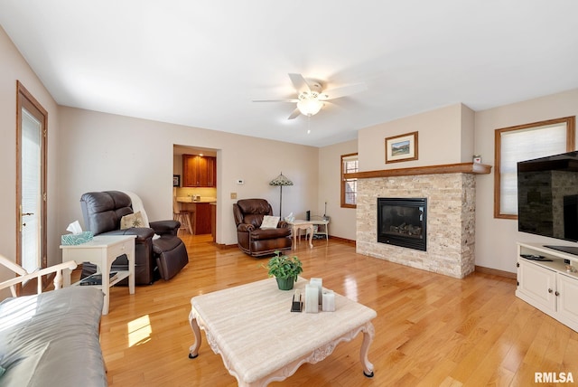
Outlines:
{"type": "MultiPolygon", "coordinates": [[[[188,358],[190,299],[266,278],[266,260],[219,250],[210,235],[182,238],[190,259],[176,277],[137,287],[135,295],[111,289],[101,345],[112,386],[237,385],[204,333],[199,357],[188,358]]],[[[272,386],[528,386],[536,372],[573,373],[578,382],[578,333],[515,297],[514,279],[449,278],[358,255],[342,241],[313,245],[295,251],[303,277],[321,277],[324,287],[378,312],[368,356],[375,376],[362,373],[359,335],[272,386]]],[[[283,322],[279,329],[299,335],[283,322]]]]}

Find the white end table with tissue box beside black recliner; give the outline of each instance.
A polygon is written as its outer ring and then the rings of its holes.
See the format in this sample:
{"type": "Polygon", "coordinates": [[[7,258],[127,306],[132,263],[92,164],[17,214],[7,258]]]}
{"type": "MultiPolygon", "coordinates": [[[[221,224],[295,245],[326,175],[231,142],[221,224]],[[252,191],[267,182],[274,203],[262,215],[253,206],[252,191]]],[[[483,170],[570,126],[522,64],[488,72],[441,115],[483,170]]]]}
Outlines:
{"type": "MultiPolygon", "coordinates": [[[[98,235],[92,241],[78,245],[61,245],[62,262],[74,260],[77,264],[82,262],[94,263],[102,273],[102,285],[91,285],[102,289],[105,294],[105,302],[102,306],[102,314],[108,314],[109,288],[118,281],[128,278],[128,293],[135,294],[135,235],[98,235]],[[109,281],[110,266],[117,257],[126,254],[128,270],[117,271],[117,278],[109,281]]],[[[64,286],[70,286],[70,270],[63,272],[64,286]]]]}

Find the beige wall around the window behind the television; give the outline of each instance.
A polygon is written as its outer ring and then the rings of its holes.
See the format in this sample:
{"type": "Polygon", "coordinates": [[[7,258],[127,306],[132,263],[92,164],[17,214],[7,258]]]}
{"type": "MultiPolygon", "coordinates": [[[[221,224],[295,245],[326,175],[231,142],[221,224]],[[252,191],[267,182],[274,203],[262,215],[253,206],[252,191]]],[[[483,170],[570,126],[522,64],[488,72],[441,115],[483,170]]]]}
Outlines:
{"type": "MultiPolygon", "coordinates": [[[[578,89],[476,112],[476,152],[483,164],[494,165],[494,132],[551,118],[578,115],[578,89]]],[[[516,242],[562,244],[517,231],[517,221],[494,219],[494,169],[476,181],[476,265],[516,272],[516,242]]]]}

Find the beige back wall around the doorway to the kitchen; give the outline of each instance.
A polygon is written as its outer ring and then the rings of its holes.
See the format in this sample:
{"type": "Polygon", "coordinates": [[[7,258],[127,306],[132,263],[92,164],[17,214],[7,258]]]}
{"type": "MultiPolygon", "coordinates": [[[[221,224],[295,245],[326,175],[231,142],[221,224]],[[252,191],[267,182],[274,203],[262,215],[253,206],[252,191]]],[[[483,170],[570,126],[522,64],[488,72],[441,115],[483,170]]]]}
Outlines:
{"type": "Polygon", "coordinates": [[[282,171],[294,182],[283,190],[284,215],[319,211],[316,147],[64,107],[61,127],[61,230],[77,219],[84,223],[79,199],[89,191],[133,191],[149,219],[172,218],[174,144],[218,149],[218,243],[237,243],[232,204],[238,199],[264,198],[279,212],[279,187],[269,182],[282,171]]]}

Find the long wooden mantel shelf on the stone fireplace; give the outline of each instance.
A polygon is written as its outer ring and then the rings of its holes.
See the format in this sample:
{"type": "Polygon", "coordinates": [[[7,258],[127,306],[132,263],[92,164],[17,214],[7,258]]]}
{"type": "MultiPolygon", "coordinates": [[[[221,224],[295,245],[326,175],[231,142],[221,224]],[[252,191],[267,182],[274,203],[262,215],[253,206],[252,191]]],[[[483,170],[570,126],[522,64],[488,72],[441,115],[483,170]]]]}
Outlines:
{"type": "Polygon", "coordinates": [[[414,168],[382,169],[379,171],[356,172],[344,174],[346,179],[370,179],[374,177],[392,176],[415,176],[415,175],[439,175],[439,174],[472,174],[488,175],[491,165],[477,163],[459,163],[444,165],[416,166],[414,168]]]}

